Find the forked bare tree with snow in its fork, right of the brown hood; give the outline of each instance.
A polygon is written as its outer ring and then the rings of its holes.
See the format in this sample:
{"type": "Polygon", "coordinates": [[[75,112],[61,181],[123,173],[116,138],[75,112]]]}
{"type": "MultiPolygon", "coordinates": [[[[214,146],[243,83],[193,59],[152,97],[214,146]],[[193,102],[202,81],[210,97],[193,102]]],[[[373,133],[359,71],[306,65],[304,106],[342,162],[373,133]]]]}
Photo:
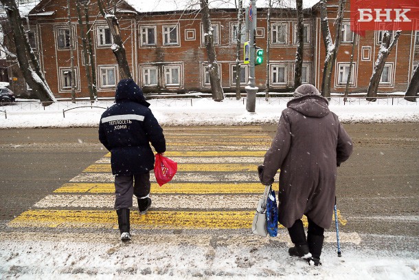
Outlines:
{"type": "Polygon", "coordinates": [[[335,43],[333,43],[330,34],[328,22],[328,10],[326,7],[327,0],[320,0],[320,29],[323,36],[324,46],[326,48],[326,58],[324,60],[323,79],[321,81],[321,95],[330,97],[330,84],[332,80],[333,65],[335,65],[337,51],[341,43],[341,25],[343,19],[343,11],[345,10],[346,0],[339,0],[337,8],[337,17],[335,20],[335,43]]]}

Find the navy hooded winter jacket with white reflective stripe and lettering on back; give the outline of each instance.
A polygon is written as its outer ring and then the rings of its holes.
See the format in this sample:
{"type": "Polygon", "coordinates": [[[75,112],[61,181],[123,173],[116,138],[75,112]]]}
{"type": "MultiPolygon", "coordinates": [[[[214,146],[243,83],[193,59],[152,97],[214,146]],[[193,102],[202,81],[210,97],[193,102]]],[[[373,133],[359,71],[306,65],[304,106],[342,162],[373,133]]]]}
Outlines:
{"type": "Polygon", "coordinates": [[[166,151],[163,129],[153,116],[143,92],[132,79],[121,80],[116,104],[100,118],[99,140],[111,151],[113,175],[147,173],[154,168],[154,153],[166,151]]]}

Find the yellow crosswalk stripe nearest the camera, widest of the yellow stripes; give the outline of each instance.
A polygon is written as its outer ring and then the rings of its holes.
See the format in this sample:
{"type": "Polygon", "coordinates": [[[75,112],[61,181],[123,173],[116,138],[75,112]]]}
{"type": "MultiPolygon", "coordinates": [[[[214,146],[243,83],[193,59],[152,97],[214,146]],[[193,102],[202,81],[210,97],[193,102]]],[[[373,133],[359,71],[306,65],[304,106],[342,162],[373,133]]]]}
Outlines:
{"type": "MultiPolygon", "coordinates": [[[[255,211],[131,211],[131,228],[251,228],[255,211]]],[[[307,225],[303,217],[304,226],[307,225]]],[[[345,221],[346,224],[346,221],[345,221]]],[[[9,222],[10,227],[117,228],[115,211],[28,210],[9,222]]],[[[283,228],[283,226],[279,226],[283,228]]]]}

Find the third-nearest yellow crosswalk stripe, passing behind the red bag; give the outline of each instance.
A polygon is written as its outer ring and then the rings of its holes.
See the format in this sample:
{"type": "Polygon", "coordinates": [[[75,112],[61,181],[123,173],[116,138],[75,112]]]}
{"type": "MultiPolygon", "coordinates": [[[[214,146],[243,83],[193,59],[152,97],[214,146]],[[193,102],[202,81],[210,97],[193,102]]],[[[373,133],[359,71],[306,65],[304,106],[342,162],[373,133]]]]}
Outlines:
{"type": "MultiPolygon", "coordinates": [[[[83,172],[111,172],[111,164],[91,164],[84,169],[83,172]]],[[[178,172],[185,172],[185,171],[203,171],[203,172],[230,172],[230,171],[258,171],[258,165],[256,164],[178,164],[177,165],[178,172]]]]}

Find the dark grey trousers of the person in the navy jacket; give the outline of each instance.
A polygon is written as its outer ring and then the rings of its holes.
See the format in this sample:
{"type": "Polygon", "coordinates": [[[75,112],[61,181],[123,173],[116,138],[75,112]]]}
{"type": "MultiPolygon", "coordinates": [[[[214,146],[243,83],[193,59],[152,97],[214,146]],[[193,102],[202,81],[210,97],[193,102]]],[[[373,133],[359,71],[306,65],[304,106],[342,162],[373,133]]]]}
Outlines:
{"type": "Polygon", "coordinates": [[[131,208],[133,195],[146,198],[150,195],[150,173],[115,176],[115,206],[114,208],[131,208]]]}

